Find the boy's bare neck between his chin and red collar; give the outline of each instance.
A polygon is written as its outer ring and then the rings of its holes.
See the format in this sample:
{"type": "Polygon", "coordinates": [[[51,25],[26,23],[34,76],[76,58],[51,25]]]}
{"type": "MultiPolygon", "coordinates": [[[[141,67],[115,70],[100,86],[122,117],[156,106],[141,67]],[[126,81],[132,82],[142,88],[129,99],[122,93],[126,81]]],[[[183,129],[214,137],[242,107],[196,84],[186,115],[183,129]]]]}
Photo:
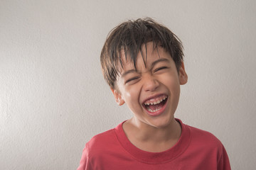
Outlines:
{"type": "Polygon", "coordinates": [[[123,124],[123,128],[133,145],[149,152],[169,149],[181,136],[181,125],[174,118],[164,127],[154,127],[132,118],[123,124]]]}

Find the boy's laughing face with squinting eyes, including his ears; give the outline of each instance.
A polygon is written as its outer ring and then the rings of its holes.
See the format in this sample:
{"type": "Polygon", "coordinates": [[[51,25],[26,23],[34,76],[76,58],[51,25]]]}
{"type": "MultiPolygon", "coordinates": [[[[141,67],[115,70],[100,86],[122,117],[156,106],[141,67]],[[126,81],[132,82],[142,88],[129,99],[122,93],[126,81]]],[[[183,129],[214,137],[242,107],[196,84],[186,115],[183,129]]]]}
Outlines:
{"type": "MultiPolygon", "coordinates": [[[[153,127],[166,127],[174,120],[178,106],[180,84],[186,84],[187,75],[181,64],[179,74],[174,60],[164,48],[153,50],[153,42],[148,42],[146,67],[139,53],[137,71],[132,62],[122,56],[123,68],[117,77],[116,90],[112,90],[119,105],[127,103],[137,123],[153,127]]],[[[142,49],[144,56],[146,50],[142,49]]]]}

